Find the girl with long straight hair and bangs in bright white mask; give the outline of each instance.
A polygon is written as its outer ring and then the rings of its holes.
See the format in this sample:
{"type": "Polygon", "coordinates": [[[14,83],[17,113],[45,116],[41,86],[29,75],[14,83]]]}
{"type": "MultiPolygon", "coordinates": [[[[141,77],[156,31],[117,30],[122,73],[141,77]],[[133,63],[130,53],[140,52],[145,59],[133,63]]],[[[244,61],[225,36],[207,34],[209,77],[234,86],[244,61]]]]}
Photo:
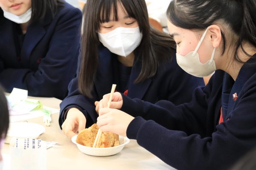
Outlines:
{"type": "Polygon", "coordinates": [[[87,0],[84,16],[80,69],[61,103],[65,135],[96,122],[97,101],[112,84],[131,98],[175,105],[204,85],[177,65],[173,39],[150,28],[145,0],[87,0]]]}

